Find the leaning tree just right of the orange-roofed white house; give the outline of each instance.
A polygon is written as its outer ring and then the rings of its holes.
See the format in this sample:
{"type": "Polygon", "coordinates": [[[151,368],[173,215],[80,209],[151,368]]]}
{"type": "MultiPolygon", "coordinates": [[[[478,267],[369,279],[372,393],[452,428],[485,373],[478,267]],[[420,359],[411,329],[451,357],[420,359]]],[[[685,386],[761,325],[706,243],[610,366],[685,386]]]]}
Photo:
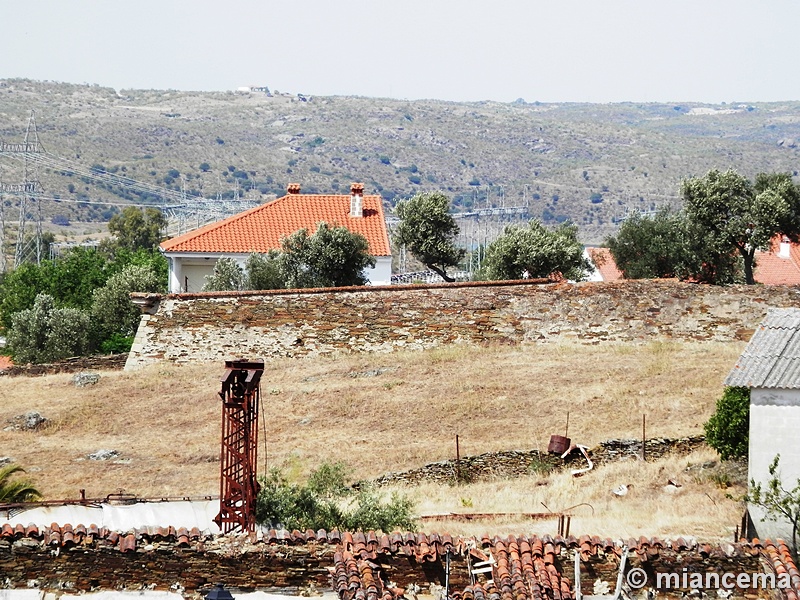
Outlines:
{"type": "Polygon", "coordinates": [[[396,242],[445,281],[455,281],[447,269],[457,266],[466,251],[455,245],[459,229],[450,214],[450,199],[441,192],[423,192],[398,202],[396,212],[396,242]]]}

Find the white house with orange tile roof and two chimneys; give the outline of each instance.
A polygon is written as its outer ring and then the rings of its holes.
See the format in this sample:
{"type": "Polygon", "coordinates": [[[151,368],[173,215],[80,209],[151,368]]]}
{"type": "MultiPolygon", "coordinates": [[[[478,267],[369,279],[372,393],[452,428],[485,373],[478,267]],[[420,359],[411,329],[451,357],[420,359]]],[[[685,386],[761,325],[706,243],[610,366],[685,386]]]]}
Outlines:
{"type": "Polygon", "coordinates": [[[389,285],[392,252],[381,197],[365,195],[361,183],[352,184],[349,195],[301,194],[300,184],[290,183],[282,198],[162,242],[161,252],[169,261],[169,291],[199,292],[217,259],[231,257],[244,266],[253,252],[279,250],[284,237],[299,229],[313,234],[323,221],[363,235],[375,258],[367,279],[372,285],[389,285]]]}

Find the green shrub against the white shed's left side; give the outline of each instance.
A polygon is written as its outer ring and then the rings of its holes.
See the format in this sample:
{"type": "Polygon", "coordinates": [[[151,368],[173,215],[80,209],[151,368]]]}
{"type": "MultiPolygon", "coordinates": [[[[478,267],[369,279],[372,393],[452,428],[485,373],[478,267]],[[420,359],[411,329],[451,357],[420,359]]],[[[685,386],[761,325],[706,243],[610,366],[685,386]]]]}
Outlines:
{"type": "Polygon", "coordinates": [[[750,388],[726,387],[717,410],[705,424],[706,443],[723,460],[747,456],[750,431],[750,388]]]}

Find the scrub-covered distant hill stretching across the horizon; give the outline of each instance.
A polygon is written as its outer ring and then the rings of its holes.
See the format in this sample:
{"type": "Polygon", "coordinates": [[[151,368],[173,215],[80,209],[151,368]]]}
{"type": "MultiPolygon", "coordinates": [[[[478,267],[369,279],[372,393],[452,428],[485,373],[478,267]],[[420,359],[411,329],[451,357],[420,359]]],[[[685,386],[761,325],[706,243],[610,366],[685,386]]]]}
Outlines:
{"type": "MultiPolygon", "coordinates": [[[[390,207],[443,190],[459,212],[526,205],[545,221],[571,219],[590,243],[627,210],[678,203],[682,178],[714,167],[797,175],[800,158],[795,101],[455,103],[0,80],[1,141],[22,141],[31,110],[63,164],[176,192],[231,198],[238,188],[266,201],[289,182],[344,193],[363,181],[390,207]]],[[[45,195],[61,199],[43,204],[51,227],[106,221],[119,207],[103,203],[158,202],[55,165],[38,173],[45,195]]],[[[0,160],[0,181],[21,177],[20,161],[0,160]]]]}

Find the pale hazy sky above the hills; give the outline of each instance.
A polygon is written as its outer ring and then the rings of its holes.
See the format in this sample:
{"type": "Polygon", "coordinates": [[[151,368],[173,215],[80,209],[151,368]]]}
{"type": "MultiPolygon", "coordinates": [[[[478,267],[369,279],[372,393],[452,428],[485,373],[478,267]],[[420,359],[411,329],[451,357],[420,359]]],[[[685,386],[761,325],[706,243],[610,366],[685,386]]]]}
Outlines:
{"type": "Polygon", "coordinates": [[[0,0],[0,19],[0,78],[504,102],[800,100],[798,0],[0,0]]]}

